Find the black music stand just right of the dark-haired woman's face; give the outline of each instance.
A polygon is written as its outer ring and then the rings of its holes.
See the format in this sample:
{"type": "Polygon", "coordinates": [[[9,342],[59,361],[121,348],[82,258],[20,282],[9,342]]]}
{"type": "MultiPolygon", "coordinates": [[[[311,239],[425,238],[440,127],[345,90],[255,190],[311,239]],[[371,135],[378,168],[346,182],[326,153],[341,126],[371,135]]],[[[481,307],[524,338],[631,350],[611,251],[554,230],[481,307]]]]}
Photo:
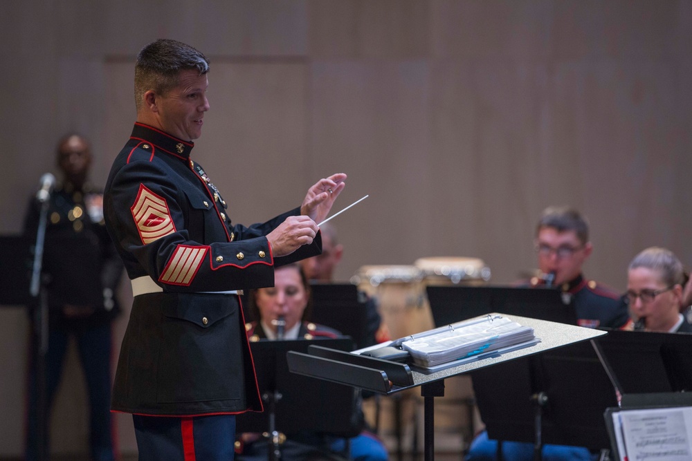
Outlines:
{"type": "Polygon", "coordinates": [[[310,320],[353,338],[356,348],[367,344],[367,305],[351,283],[311,283],[310,320]]]}

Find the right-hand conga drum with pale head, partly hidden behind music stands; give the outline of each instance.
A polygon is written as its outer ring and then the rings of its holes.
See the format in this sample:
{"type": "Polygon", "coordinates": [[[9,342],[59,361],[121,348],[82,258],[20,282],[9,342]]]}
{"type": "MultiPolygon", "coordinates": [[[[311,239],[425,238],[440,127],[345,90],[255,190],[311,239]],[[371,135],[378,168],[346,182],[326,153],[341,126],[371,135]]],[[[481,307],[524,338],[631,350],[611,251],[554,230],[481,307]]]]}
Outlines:
{"type": "MultiPolygon", "coordinates": [[[[419,258],[415,266],[423,276],[423,291],[430,285],[482,285],[490,280],[490,268],[480,258],[435,256],[419,258]]],[[[424,303],[428,306],[427,295],[424,303]]],[[[459,320],[463,319],[463,315],[459,320]]],[[[461,443],[470,444],[479,425],[473,385],[468,375],[445,379],[444,397],[435,403],[435,429],[456,434],[461,443]]]]}

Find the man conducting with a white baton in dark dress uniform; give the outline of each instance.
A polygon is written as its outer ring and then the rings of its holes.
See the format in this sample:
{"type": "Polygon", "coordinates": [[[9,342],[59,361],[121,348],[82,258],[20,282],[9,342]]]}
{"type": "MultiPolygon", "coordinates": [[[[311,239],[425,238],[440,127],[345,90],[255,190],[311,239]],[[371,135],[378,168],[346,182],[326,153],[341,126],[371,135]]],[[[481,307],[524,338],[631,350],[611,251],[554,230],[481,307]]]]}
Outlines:
{"type": "Polygon", "coordinates": [[[273,285],[274,267],[320,253],[316,223],[345,187],[336,173],[300,207],[234,224],[192,158],[209,63],[160,39],[135,66],[137,120],[106,185],[106,225],[134,303],[111,409],[133,414],[140,460],[232,460],[235,414],[262,411],[237,290],[273,285]]]}

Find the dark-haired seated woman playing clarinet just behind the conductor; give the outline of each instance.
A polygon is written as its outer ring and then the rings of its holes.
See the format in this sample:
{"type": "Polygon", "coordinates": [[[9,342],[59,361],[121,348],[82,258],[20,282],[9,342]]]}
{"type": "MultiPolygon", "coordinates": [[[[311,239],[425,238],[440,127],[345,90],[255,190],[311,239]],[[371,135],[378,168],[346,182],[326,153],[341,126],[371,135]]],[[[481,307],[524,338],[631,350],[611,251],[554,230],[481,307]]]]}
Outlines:
{"type": "MultiPolygon", "coordinates": [[[[297,263],[277,267],[274,286],[253,290],[250,296],[253,318],[246,325],[251,341],[260,339],[320,339],[336,338],[340,332],[327,326],[310,323],[310,286],[297,263]]],[[[376,436],[367,431],[350,438],[306,435],[282,443],[281,458],[286,461],[332,460],[349,445],[349,459],[358,461],[385,461],[387,451],[376,436]],[[300,439],[300,440],[298,440],[300,439]]],[[[237,442],[238,460],[264,460],[268,458],[267,442],[259,434],[242,434],[237,442]]]]}

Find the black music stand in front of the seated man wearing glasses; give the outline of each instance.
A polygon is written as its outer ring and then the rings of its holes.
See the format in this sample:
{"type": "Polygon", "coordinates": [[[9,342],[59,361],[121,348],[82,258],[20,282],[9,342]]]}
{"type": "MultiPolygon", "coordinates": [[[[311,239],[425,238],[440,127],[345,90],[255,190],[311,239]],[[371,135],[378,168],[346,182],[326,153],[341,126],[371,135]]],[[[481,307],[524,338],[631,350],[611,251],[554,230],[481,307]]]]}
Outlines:
{"type": "Polygon", "coordinates": [[[426,292],[435,326],[490,312],[576,325],[572,297],[563,297],[563,293],[555,288],[429,285],[426,292]]]}

